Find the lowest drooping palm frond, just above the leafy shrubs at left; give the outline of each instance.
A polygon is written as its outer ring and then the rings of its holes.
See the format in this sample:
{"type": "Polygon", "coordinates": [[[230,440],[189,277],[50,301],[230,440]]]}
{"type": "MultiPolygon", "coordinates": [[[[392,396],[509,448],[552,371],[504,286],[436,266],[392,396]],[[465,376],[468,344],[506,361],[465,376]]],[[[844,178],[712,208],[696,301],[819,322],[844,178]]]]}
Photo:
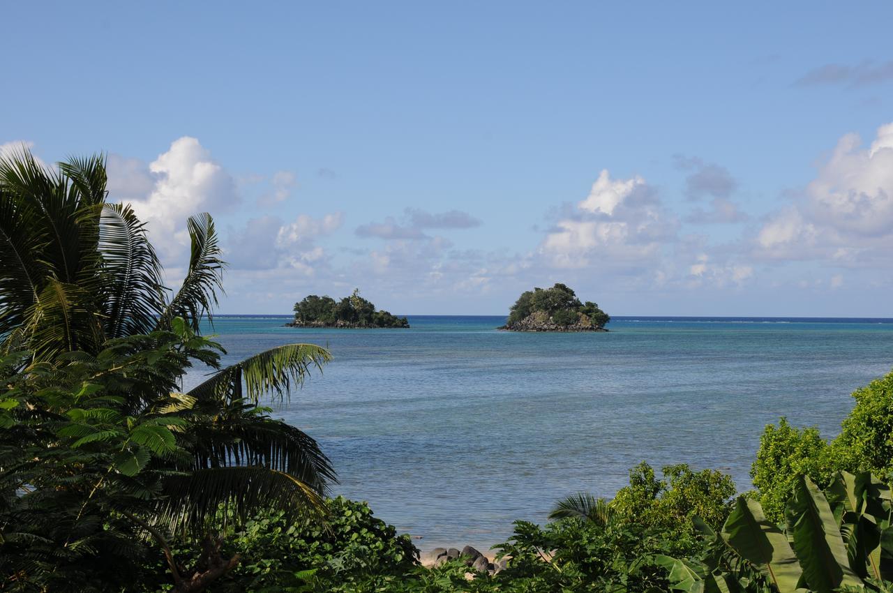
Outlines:
{"type": "Polygon", "coordinates": [[[245,521],[267,508],[285,511],[291,518],[321,518],[324,501],[310,486],[263,467],[221,467],[198,470],[163,480],[163,503],[154,515],[156,524],[172,533],[201,533],[218,513],[245,521]]]}

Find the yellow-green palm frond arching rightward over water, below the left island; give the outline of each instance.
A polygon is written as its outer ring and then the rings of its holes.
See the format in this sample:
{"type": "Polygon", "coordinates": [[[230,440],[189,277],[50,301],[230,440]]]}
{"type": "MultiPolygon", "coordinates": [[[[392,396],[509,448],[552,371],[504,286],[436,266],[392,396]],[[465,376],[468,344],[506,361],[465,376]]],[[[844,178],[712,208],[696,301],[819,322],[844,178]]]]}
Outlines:
{"type": "Polygon", "coordinates": [[[189,395],[230,401],[245,397],[256,404],[265,393],[287,396],[292,386],[299,387],[304,382],[313,367],[321,371],[322,365],[330,360],[330,352],[323,347],[287,344],[214,373],[210,379],[192,388],[189,395]]]}

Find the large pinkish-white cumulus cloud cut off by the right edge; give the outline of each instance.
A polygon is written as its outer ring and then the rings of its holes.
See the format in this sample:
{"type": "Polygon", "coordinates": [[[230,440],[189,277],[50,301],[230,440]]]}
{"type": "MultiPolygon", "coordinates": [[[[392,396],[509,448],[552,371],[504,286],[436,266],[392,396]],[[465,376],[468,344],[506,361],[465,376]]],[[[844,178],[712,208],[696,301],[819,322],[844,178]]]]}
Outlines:
{"type": "Polygon", "coordinates": [[[893,252],[893,124],[840,138],[815,179],[755,237],[761,255],[857,264],[893,252]]]}

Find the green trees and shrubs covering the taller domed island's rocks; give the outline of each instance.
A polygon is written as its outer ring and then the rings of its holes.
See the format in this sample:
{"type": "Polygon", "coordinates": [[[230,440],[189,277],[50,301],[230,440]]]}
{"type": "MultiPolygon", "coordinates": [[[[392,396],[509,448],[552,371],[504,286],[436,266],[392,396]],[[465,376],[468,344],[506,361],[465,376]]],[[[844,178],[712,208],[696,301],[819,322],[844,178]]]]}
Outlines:
{"type": "Polygon", "coordinates": [[[580,303],[571,288],[557,283],[552,288],[534,288],[522,293],[512,305],[505,327],[512,329],[535,313],[542,316],[544,321],[562,327],[579,323],[583,327],[602,328],[611,321],[598,305],[591,301],[585,305],[580,303]]]}

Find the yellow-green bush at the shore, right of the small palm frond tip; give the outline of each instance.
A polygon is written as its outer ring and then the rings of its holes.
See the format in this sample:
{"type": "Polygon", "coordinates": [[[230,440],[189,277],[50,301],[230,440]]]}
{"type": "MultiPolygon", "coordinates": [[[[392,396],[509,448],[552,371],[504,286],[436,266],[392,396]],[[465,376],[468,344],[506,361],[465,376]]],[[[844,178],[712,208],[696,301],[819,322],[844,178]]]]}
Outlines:
{"type": "Polygon", "coordinates": [[[695,517],[718,529],[730,513],[735,492],[731,477],[716,470],[694,472],[687,464],[667,465],[658,479],[642,462],[630,470],[630,485],[617,492],[612,506],[629,521],[670,532],[691,532],[695,517]]]}

